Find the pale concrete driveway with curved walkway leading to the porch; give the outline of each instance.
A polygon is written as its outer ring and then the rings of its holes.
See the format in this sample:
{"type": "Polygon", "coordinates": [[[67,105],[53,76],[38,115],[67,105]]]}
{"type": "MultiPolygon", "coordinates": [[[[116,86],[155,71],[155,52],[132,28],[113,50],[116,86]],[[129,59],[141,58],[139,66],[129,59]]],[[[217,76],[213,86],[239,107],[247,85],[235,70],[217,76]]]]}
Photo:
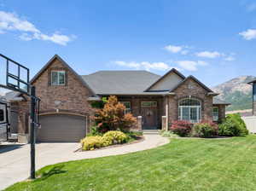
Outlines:
{"type": "MultiPolygon", "coordinates": [[[[143,142],[127,144],[123,147],[106,148],[89,152],[76,152],[79,143],[39,143],[36,145],[36,168],[45,165],[76,159],[92,159],[110,155],[133,153],[156,148],[169,142],[168,138],[159,135],[144,135],[143,142]]],[[[15,182],[29,177],[30,147],[29,145],[1,146],[0,145],[0,190],[15,182]]]]}

